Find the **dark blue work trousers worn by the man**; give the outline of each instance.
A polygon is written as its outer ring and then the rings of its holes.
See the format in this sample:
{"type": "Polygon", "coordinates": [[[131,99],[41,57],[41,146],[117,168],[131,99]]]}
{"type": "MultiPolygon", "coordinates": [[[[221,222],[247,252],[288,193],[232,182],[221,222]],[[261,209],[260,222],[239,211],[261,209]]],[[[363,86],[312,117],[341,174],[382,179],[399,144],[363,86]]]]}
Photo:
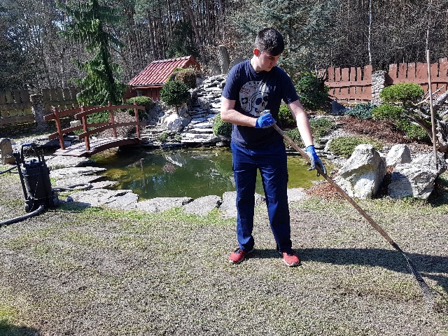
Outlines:
{"type": "Polygon", "coordinates": [[[279,251],[292,247],[288,209],[288,169],[283,141],[263,148],[248,149],[231,144],[233,173],[237,187],[237,238],[239,248],[251,251],[255,207],[255,181],[260,170],[267,214],[279,251]]]}

